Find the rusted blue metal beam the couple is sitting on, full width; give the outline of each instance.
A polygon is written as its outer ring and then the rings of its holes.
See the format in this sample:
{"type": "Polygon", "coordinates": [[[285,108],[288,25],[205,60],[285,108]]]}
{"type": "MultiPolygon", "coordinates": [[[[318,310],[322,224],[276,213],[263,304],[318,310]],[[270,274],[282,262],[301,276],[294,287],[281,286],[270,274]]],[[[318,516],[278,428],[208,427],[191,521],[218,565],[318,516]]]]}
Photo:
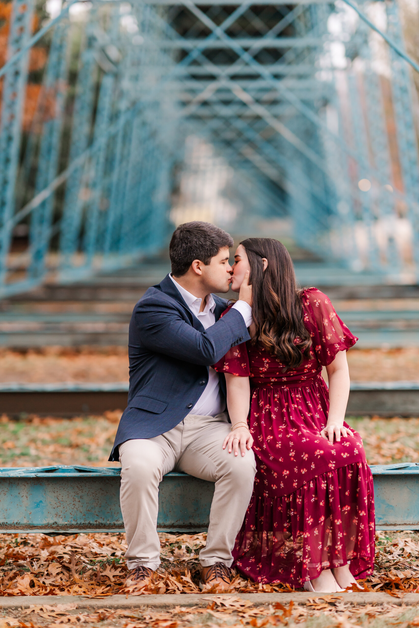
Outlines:
{"type": "MultiPolygon", "coordinates": [[[[419,463],[374,465],[376,526],[419,529],[419,463]]],[[[57,465],[0,468],[0,531],[123,532],[120,469],[57,465]]],[[[170,473],[160,484],[160,532],[204,532],[214,483],[170,473]]]]}

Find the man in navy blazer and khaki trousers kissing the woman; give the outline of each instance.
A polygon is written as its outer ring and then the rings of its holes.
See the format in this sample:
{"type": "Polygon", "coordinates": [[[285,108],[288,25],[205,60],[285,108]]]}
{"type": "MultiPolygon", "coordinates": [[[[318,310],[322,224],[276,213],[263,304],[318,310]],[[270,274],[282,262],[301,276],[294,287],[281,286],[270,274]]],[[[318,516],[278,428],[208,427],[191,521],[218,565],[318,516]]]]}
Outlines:
{"type": "Polygon", "coordinates": [[[221,319],[227,303],[212,294],[229,290],[232,245],[229,234],[209,223],[180,225],[170,242],[171,274],[134,307],[128,407],[109,458],[122,464],[128,583],[150,577],[160,565],[158,485],[173,470],[215,482],[200,586],[225,590],[231,582],[231,550],[256,473],[251,450],[237,452],[236,442],[234,452],[222,448],[231,430],[226,382],[210,367],[249,340],[247,279],[239,301],[221,319]]]}

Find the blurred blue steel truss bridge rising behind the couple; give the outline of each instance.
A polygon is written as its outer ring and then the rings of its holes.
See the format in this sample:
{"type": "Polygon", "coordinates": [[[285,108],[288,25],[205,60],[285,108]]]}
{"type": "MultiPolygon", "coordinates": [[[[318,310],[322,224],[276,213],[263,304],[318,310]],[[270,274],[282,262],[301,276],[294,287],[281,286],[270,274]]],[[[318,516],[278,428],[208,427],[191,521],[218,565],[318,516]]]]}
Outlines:
{"type": "Polygon", "coordinates": [[[419,67],[398,2],[13,0],[0,20],[0,297],[158,252],[188,176],[198,209],[213,185],[193,179],[205,150],[243,217],[290,217],[318,257],[416,283],[419,67]]]}

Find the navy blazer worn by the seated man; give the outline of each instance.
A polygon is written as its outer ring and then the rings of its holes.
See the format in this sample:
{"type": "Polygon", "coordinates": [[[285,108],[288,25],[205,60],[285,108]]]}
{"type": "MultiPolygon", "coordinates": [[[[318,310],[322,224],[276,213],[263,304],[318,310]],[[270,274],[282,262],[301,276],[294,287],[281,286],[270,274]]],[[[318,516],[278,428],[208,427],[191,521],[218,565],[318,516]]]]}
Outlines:
{"type": "MultiPolygon", "coordinates": [[[[190,413],[208,383],[209,367],[227,351],[249,340],[241,313],[212,295],[215,324],[204,329],[166,276],[148,288],[129,323],[128,407],[119,422],[109,460],[132,438],[152,438],[174,428],[190,413]]],[[[226,379],[220,375],[226,392],[226,379]]]]}

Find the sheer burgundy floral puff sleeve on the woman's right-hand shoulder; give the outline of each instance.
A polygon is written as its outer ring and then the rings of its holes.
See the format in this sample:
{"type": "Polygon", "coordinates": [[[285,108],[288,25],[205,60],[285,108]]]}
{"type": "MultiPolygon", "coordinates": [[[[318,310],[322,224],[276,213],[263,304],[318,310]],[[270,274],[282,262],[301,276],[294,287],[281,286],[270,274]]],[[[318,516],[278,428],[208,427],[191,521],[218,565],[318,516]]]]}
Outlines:
{"type": "Polygon", "coordinates": [[[347,351],[358,338],[340,320],[327,295],[308,288],[303,292],[304,325],[312,337],[312,349],[323,366],[335,359],[339,351],[347,351]]]}

